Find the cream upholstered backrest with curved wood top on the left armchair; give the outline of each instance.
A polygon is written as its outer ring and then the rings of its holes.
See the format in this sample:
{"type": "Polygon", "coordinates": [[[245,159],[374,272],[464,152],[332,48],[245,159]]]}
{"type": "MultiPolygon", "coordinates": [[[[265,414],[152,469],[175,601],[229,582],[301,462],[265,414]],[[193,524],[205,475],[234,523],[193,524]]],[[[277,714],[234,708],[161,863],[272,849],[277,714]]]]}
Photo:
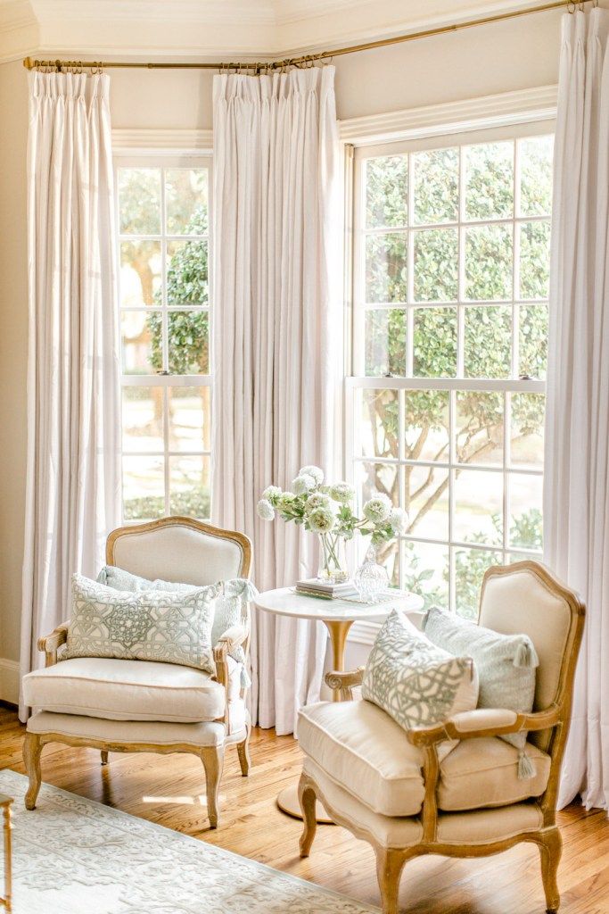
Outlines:
{"type": "Polygon", "coordinates": [[[106,560],[142,578],[204,587],[218,580],[247,578],[250,543],[243,534],[189,517],[163,517],[113,530],[106,560]]]}

